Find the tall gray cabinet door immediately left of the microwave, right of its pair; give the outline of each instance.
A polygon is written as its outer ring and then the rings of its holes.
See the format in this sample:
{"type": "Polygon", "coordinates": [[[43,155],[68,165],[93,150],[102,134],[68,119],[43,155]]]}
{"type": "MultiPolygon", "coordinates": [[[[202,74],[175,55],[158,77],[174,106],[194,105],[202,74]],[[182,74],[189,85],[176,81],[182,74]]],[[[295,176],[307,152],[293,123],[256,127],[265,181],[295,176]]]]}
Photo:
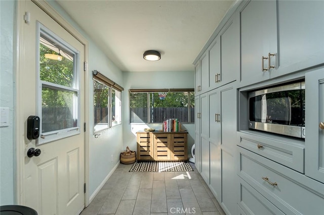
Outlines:
{"type": "Polygon", "coordinates": [[[226,214],[236,214],[234,154],[236,146],[236,90],[233,86],[220,90],[221,97],[221,204],[226,214]]]}

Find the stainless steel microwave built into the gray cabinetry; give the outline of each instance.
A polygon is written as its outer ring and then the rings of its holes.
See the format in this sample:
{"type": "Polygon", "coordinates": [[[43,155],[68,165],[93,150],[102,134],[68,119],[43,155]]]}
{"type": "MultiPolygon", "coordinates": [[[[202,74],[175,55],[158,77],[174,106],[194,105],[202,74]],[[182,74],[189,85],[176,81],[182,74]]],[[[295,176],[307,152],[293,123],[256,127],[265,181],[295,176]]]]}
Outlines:
{"type": "Polygon", "coordinates": [[[305,138],[305,82],[250,92],[249,128],[305,138]]]}

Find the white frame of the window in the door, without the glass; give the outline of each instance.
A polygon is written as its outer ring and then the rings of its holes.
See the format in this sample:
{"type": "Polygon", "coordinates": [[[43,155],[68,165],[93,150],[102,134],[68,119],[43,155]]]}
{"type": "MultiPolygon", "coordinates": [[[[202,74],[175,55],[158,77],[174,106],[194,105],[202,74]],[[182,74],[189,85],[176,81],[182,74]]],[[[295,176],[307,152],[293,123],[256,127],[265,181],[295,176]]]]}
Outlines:
{"type": "Polygon", "coordinates": [[[36,141],[36,145],[42,145],[45,143],[53,142],[56,140],[60,140],[66,137],[74,136],[80,134],[80,78],[78,72],[80,70],[80,52],[72,47],[69,43],[65,42],[61,39],[58,35],[56,35],[53,31],[45,27],[43,24],[36,22],[36,35],[37,35],[37,42],[36,42],[36,113],[40,119],[39,122],[39,136],[36,141]],[[73,86],[67,87],[59,84],[55,84],[48,81],[41,80],[41,71],[40,71],[40,56],[39,56],[39,49],[40,49],[40,41],[41,41],[41,34],[44,35],[46,38],[57,42],[60,46],[64,47],[66,50],[74,54],[73,59],[73,86]],[[60,129],[50,132],[43,132],[42,131],[42,90],[43,87],[59,90],[59,91],[67,91],[76,93],[76,98],[73,99],[73,115],[75,114],[77,117],[77,125],[74,127],[60,129]],[[46,138],[45,138],[46,137],[46,138]]]}

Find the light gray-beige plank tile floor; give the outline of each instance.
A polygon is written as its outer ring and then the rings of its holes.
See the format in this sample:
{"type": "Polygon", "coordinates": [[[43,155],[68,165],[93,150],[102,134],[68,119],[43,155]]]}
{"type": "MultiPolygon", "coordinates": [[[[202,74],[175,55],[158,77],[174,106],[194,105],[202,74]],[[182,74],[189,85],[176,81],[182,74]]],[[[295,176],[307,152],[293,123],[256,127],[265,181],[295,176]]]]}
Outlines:
{"type": "Polygon", "coordinates": [[[81,215],[225,214],[194,165],[193,172],[168,173],[130,173],[131,167],[119,164],[81,215]]]}

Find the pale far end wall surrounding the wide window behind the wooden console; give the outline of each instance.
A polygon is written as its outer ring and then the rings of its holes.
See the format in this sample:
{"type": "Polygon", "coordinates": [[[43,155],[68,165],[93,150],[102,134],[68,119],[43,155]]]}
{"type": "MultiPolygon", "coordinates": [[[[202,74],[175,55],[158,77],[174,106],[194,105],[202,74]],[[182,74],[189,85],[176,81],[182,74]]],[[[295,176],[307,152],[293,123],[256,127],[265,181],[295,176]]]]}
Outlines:
{"type": "MultiPolygon", "coordinates": [[[[143,60],[145,61],[145,60],[143,60]]],[[[160,61],[163,61],[161,59],[160,61]]],[[[152,62],[154,63],[154,62],[152,62]]],[[[161,88],[194,88],[194,67],[188,72],[124,72],[123,96],[123,135],[124,148],[129,146],[136,151],[136,132],[144,128],[162,129],[161,123],[156,124],[130,124],[129,89],[161,89],[161,88]]],[[[168,96],[168,95],[167,95],[168,96]]],[[[188,153],[194,143],[194,124],[182,124],[181,128],[188,131],[188,153]]]]}

